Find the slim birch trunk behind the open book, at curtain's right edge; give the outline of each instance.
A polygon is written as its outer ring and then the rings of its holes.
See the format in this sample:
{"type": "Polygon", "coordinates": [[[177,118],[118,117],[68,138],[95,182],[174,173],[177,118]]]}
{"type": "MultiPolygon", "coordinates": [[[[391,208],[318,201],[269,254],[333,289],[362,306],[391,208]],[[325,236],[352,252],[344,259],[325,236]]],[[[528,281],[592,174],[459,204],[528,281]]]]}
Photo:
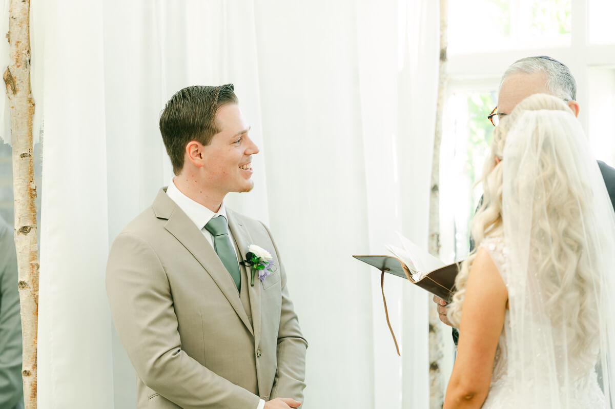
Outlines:
{"type": "MultiPolygon", "coordinates": [[[[435,113],[434,159],[431,169],[431,193],[429,196],[429,253],[440,253],[440,145],[442,143],[442,111],[446,86],[446,29],[448,20],[447,1],[440,0],[440,69],[438,73],[438,100],[435,113]]],[[[444,379],[442,375],[443,334],[434,303],[429,299],[429,408],[440,409],[444,405],[444,379]]]]}

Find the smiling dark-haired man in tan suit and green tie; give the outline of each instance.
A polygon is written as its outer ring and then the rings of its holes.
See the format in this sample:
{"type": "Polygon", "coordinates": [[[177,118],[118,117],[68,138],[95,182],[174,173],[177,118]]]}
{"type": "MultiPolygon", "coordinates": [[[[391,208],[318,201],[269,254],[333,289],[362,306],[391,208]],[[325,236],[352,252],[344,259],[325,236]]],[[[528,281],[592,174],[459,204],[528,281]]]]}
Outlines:
{"type": "Polygon", "coordinates": [[[116,237],[106,271],[137,408],[298,407],[308,344],[284,266],[264,224],[224,207],[252,189],[258,153],[233,85],[175,93],[160,130],[175,177],[116,237]],[[271,253],[253,285],[250,245],[271,253]]]}

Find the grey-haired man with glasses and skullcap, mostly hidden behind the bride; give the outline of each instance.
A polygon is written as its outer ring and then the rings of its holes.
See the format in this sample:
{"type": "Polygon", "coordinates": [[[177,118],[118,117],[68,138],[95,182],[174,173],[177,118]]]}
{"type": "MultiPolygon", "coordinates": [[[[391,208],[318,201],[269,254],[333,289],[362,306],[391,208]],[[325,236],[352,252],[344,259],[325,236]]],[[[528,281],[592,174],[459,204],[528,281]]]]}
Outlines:
{"type": "MultiPolygon", "coordinates": [[[[502,75],[498,94],[498,106],[490,115],[494,125],[500,117],[509,114],[518,103],[534,93],[547,93],[566,101],[575,116],[579,115],[576,101],[576,81],[568,67],[554,58],[541,55],[527,57],[512,63],[502,75]]],[[[605,180],[606,190],[615,209],[615,169],[598,161],[598,167],[605,180]]],[[[440,320],[451,325],[446,317],[446,301],[434,296],[440,320]]],[[[457,343],[458,333],[453,329],[453,340],[457,343]]]]}

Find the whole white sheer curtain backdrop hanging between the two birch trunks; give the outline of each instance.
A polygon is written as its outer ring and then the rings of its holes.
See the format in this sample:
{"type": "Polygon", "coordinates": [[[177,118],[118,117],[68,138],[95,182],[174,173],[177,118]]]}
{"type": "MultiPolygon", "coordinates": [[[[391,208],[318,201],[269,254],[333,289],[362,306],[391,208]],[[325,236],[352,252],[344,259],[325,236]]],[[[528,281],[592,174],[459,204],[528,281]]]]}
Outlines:
{"type": "MultiPolygon", "coordinates": [[[[135,407],[109,319],[108,244],[171,177],[157,129],[232,82],[261,148],[228,205],[271,226],[308,338],[306,409],[427,408],[426,293],[352,254],[427,243],[437,87],[431,0],[32,0],[44,117],[39,407],[135,407]]],[[[6,12],[5,12],[6,13],[6,12]]]]}

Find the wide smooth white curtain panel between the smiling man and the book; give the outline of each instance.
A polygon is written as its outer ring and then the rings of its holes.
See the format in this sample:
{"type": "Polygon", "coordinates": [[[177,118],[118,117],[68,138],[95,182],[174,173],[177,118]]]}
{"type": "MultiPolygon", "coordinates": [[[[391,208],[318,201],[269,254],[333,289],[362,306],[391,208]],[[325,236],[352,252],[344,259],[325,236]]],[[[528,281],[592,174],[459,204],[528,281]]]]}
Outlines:
{"type": "Polygon", "coordinates": [[[308,339],[306,408],[373,408],[354,2],[255,2],[271,228],[308,339]]]}

